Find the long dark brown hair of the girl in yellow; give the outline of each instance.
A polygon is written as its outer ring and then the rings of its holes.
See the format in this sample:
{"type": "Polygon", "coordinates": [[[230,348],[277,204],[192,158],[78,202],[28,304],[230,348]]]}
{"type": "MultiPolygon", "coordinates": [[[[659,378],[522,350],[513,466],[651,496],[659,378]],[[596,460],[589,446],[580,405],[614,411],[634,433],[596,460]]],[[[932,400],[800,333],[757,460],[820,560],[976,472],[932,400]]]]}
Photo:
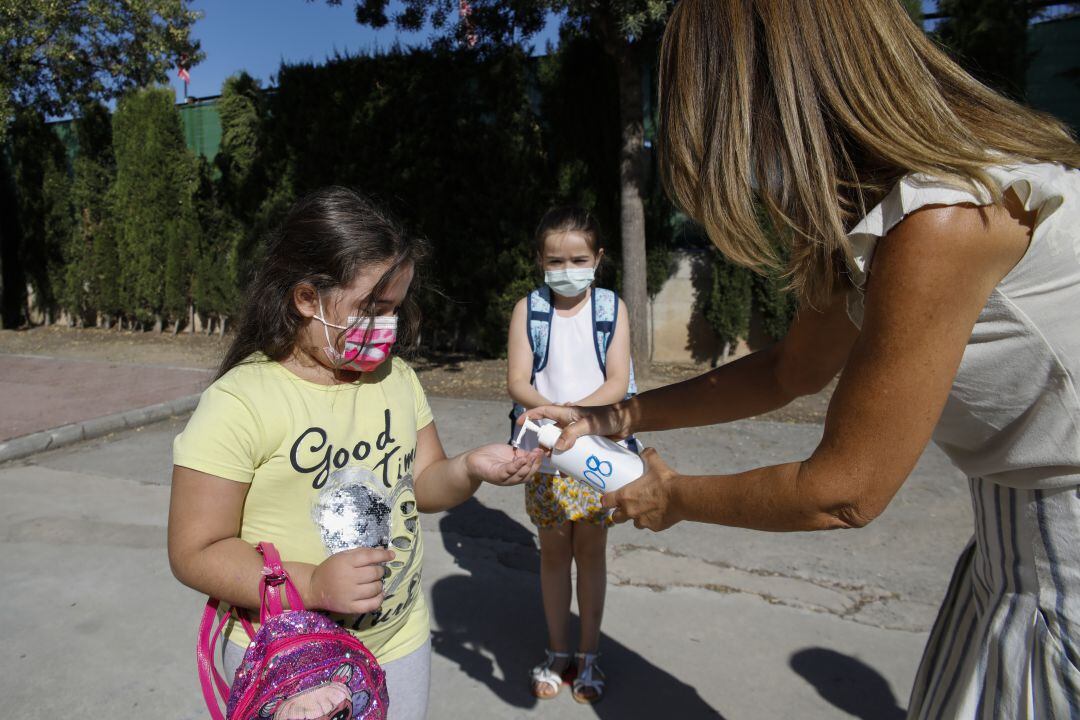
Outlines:
{"type": "MultiPolygon", "coordinates": [[[[428,244],[404,230],[388,213],[361,193],[342,187],[316,190],[293,205],[281,227],[271,234],[267,257],[247,289],[237,337],[221,362],[217,377],[256,352],[281,361],[293,352],[303,325],[293,301],[298,285],[319,293],[349,285],[370,264],[390,261],[357,315],[372,314],[375,298],[404,267],[418,268],[428,256],[428,244]]],[[[408,348],[418,337],[420,313],[410,291],[399,314],[399,347],[408,348]]]]}

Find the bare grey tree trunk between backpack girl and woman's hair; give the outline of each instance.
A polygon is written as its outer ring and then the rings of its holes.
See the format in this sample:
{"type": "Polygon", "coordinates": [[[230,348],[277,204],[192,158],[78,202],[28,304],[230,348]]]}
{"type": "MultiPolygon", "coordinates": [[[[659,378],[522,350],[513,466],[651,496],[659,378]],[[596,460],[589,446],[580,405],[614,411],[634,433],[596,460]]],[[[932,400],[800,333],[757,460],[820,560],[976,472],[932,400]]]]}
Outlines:
{"type": "Polygon", "coordinates": [[[634,372],[645,379],[649,362],[649,294],[646,287],[645,202],[642,199],[645,161],[645,110],[642,96],[642,66],[636,45],[621,40],[616,44],[619,66],[619,152],[621,185],[619,223],[622,233],[622,298],[630,312],[630,355],[634,372]]]}

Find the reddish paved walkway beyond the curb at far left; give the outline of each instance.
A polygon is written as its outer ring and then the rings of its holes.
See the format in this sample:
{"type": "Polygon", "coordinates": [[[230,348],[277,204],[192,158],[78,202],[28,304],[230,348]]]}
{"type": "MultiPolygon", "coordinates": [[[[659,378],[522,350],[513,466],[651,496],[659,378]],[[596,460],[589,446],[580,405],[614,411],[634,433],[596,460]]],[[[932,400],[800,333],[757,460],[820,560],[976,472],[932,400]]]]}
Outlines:
{"type": "Polygon", "coordinates": [[[0,354],[0,440],[201,393],[213,371],[0,354]]]}

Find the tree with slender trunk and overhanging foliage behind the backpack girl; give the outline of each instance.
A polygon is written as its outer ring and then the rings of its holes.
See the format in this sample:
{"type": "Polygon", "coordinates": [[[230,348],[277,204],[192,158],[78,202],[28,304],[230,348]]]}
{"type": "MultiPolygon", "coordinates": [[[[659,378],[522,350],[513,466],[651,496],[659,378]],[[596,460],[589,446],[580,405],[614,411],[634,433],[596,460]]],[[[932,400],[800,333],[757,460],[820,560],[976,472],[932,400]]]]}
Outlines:
{"type": "MultiPolygon", "coordinates": [[[[341,4],[341,0],[327,0],[341,4]]],[[[622,240],[622,295],[630,311],[631,354],[639,375],[649,371],[648,288],[645,245],[645,117],[643,67],[674,0],[403,0],[388,14],[389,0],[355,0],[356,21],[405,30],[431,24],[441,41],[456,40],[482,52],[518,44],[535,36],[548,15],[564,28],[597,38],[615,60],[619,78],[619,226],[622,240]],[[467,10],[467,12],[462,12],[467,10]]]]}

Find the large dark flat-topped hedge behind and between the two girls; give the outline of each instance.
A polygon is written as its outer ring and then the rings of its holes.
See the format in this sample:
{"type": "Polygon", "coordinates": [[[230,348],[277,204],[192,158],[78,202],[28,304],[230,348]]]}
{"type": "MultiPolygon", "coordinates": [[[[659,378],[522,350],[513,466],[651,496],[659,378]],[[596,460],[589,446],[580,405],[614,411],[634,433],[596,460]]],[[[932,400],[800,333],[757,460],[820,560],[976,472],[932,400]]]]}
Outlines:
{"type": "Polygon", "coordinates": [[[433,272],[418,284],[424,344],[503,352],[521,297],[507,294],[535,280],[531,230],[551,200],[531,65],[515,49],[435,47],[282,67],[256,225],[272,227],[315,188],[360,188],[433,241],[433,272]]]}

